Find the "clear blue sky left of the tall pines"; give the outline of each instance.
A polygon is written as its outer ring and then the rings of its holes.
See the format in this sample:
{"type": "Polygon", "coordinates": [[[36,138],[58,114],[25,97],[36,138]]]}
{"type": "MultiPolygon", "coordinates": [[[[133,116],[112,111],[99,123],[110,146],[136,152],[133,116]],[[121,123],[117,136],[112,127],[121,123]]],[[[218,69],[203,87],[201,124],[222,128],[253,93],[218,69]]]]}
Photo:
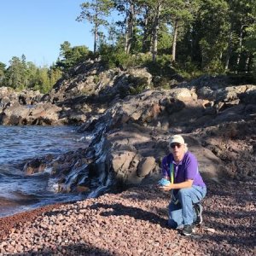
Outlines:
{"type": "Polygon", "coordinates": [[[93,49],[92,26],[76,21],[83,0],[0,0],[0,62],[26,56],[50,66],[64,41],[93,49]]]}

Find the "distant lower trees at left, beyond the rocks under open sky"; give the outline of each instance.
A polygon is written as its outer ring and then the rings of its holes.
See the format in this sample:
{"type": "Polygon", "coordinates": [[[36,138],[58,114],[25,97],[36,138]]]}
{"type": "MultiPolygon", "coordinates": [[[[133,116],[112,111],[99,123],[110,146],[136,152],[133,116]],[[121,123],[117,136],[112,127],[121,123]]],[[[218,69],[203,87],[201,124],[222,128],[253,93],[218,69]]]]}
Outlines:
{"type": "Polygon", "coordinates": [[[0,87],[8,86],[15,90],[40,90],[49,92],[62,74],[74,65],[87,59],[90,50],[86,46],[74,46],[65,41],[61,44],[60,56],[51,66],[37,67],[26,61],[26,56],[14,56],[9,67],[0,61],[0,87]]]}

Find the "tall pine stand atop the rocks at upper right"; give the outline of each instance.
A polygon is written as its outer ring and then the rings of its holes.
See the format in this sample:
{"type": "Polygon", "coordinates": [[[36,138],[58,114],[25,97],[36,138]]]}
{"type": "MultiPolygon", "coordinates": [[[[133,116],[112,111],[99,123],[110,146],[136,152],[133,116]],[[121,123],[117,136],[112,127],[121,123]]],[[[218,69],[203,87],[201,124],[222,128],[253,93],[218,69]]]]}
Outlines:
{"type": "Polygon", "coordinates": [[[169,55],[174,67],[203,72],[255,69],[255,0],[94,0],[80,7],[77,20],[93,25],[94,52],[108,45],[108,52],[150,52],[154,62],[169,55]]]}

